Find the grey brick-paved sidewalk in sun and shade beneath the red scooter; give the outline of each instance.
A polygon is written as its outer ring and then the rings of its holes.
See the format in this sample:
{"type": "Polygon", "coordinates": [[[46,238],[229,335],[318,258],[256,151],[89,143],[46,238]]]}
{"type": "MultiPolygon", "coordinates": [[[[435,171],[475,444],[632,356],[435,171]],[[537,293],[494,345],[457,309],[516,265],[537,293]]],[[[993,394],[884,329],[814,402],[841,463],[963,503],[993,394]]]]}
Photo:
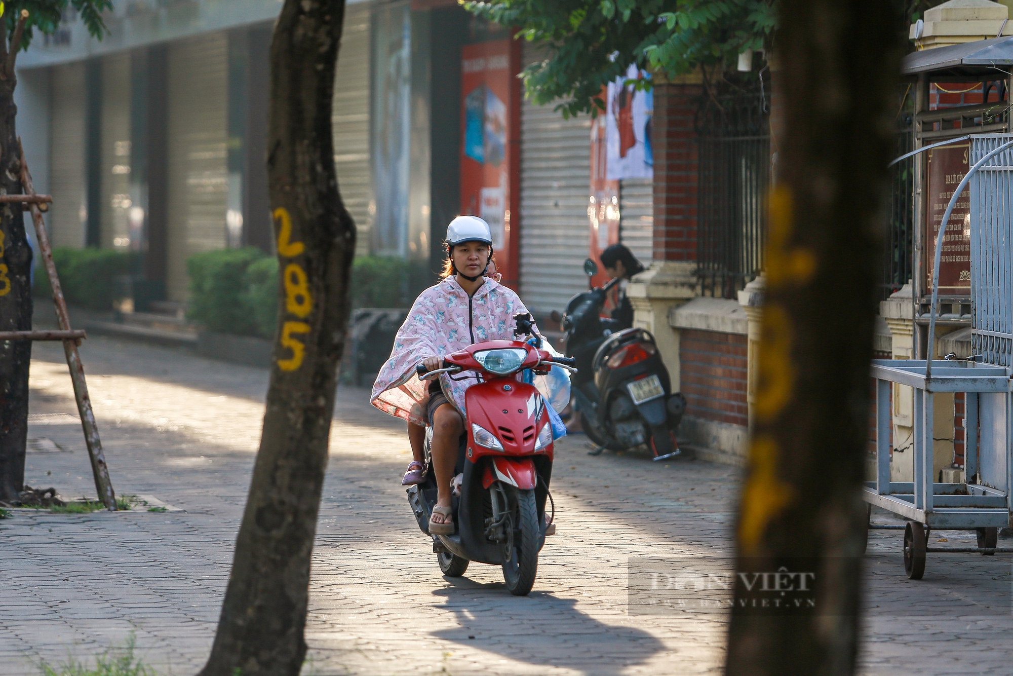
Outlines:
{"type": "MultiPolygon", "coordinates": [[[[36,344],[34,357],[29,436],[65,452],[30,453],[26,481],[93,496],[62,350],[36,344]]],[[[82,357],[118,494],[184,511],[17,511],[0,521],[0,674],[90,658],[131,632],[160,672],[196,673],[214,637],[267,373],[101,337],[82,357]]],[[[559,534],[532,594],[512,597],[498,568],[440,575],[399,485],[410,457],[402,424],[367,395],[338,390],[304,673],[720,673],[725,617],[628,614],[627,560],[728,555],[737,470],[591,457],[582,437],[561,442],[559,534]]],[[[943,537],[972,540],[931,541],[943,537]]],[[[870,535],[862,673],[1013,673],[1009,555],[929,554],[915,583],[897,556],[900,538],[870,535]]]]}

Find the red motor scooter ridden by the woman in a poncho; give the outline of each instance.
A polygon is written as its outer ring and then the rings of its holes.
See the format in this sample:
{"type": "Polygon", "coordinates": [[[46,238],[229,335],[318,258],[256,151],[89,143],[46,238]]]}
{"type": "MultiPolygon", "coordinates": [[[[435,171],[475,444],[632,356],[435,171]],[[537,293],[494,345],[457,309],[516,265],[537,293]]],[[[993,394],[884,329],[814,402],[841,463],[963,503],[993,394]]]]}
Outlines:
{"type": "MultiPolygon", "coordinates": [[[[530,315],[518,315],[515,335],[531,333],[530,315]]],[[[470,561],[501,566],[506,588],[524,596],[538,572],[538,552],[555,533],[549,480],[552,477],[552,426],[542,393],[521,382],[525,369],[546,373],[553,365],[571,371],[573,360],[552,357],[522,341],[476,343],[445,358],[440,373],[474,371],[480,382],[465,394],[467,420],[454,475],[463,473],[460,496],[453,498],[453,535],[432,535],[444,575],[464,575],[470,561]]],[[[408,487],[408,503],[426,535],[437,502],[436,472],[430,455],[432,429],[425,434],[425,481],[408,487]]]]}

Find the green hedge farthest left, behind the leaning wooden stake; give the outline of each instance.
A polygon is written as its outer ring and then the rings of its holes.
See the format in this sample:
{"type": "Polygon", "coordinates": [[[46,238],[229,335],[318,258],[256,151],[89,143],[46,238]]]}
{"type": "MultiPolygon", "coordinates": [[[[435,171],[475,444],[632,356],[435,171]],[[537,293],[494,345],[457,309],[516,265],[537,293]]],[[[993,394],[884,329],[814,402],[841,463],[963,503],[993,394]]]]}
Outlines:
{"type": "MultiPolygon", "coordinates": [[[[115,278],[131,273],[136,256],[136,253],[113,249],[64,246],[53,249],[53,262],[60,276],[64,298],[68,303],[92,310],[111,309],[115,278]]],[[[35,267],[34,285],[36,296],[52,297],[50,279],[41,262],[35,267]]]]}

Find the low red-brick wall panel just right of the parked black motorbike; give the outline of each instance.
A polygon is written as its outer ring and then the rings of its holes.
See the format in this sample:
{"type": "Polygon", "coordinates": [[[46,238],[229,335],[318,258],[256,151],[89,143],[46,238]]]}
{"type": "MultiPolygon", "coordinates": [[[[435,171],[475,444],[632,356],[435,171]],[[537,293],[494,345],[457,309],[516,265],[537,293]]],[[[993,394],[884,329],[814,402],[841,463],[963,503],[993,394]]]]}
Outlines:
{"type": "Polygon", "coordinates": [[[679,359],[687,416],[749,425],[746,336],[684,328],[679,359]]]}

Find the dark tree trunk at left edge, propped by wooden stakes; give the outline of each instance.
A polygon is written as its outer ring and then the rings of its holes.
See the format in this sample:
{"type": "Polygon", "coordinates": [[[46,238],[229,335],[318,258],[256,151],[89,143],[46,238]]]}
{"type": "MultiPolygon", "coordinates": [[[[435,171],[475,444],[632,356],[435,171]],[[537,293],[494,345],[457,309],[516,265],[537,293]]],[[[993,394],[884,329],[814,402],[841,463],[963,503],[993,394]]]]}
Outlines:
{"type": "MultiPolygon", "coordinates": [[[[0,46],[6,42],[0,29],[0,46]]],[[[0,47],[0,195],[21,193],[21,162],[14,130],[13,75],[4,77],[0,47]]],[[[0,205],[0,331],[31,329],[31,247],[20,204],[0,205]]],[[[28,367],[31,341],[0,342],[0,501],[17,498],[24,483],[28,435],[28,367]]]]}

